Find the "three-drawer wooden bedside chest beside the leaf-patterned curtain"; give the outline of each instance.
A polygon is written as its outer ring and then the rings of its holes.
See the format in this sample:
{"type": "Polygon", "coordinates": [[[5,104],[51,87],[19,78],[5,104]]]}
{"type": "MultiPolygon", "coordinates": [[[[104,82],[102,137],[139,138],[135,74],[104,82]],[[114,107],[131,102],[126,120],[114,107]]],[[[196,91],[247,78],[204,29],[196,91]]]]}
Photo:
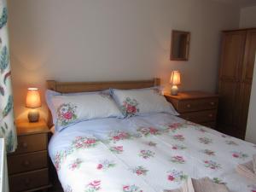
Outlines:
{"type": "Polygon", "coordinates": [[[49,128],[44,120],[29,123],[16,122],[18,148],[9,154],[9,189],[17,191],[47,191],[49,184],[48,134],[49,128]]]}

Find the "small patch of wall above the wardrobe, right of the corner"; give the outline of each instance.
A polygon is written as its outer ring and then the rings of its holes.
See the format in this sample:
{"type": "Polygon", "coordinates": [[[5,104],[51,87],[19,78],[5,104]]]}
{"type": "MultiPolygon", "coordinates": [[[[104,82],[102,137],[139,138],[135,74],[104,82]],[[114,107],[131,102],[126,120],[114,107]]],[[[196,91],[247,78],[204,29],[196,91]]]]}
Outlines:
{"type": "Polygon", "coordinates": [[[256,6],[241,9],[239,26],[241,28],[256,27],[256,6]]]}

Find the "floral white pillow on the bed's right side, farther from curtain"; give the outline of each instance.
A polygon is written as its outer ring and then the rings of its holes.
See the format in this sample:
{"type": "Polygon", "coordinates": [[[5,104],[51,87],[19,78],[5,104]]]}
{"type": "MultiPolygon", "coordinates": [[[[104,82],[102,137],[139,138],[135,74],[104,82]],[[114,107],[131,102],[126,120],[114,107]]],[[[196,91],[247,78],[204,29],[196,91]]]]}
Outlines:
{"type": "Polygon", "coordinates": [[[141,115],[145,113],[170,113],[178,115],[170,102],[166,101],[160,90],[150,89],[116,90],[112,91],[115,102],[125,117],[141,115]]]}

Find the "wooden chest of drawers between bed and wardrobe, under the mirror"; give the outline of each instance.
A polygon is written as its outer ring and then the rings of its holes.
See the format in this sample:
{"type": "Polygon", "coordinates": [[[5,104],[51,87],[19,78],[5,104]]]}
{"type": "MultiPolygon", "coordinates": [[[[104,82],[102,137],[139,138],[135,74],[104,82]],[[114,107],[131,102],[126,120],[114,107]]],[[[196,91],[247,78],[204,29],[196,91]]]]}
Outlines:
{"type": "Polygon", "coordinates": [[[165,94],[166,100],[180,113],[180,117],[211,128],[216,126],[218,95],[202,91],[165,94]]]}

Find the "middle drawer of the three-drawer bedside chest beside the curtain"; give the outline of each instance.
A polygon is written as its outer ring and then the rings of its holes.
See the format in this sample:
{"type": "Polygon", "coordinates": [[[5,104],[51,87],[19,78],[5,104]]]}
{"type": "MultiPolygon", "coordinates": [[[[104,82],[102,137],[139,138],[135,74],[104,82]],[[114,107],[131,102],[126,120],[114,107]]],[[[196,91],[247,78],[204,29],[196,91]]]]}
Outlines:
{"type": "Polygon", "coordinates": [[[47,166],[47,151],[8,156],[9,174],[43,169],[47,166]]]}

